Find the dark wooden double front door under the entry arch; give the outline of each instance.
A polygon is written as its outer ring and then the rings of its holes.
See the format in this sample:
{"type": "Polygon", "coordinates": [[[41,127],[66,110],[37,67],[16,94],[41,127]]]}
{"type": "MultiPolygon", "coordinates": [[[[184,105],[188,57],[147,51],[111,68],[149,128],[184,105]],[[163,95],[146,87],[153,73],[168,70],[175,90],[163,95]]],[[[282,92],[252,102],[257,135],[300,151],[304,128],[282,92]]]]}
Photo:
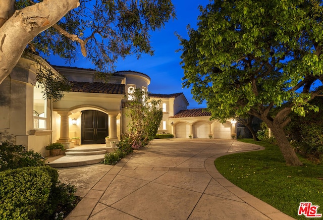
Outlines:
{"type": "Polygon", "coordinates": [[[109,136],[109,117],[105,113],[86,110],[81,116],[81,144],[104,144],[109,136]]]}

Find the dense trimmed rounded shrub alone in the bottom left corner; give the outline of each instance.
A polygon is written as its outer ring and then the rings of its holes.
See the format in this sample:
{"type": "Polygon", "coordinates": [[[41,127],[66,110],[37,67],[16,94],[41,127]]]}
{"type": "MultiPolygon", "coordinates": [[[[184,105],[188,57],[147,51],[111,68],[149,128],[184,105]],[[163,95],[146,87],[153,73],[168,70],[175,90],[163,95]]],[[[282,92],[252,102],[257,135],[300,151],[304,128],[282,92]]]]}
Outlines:
{"type": "Polygon", "coordinates": [[[58,173],[49,167],[27,167],[0,172],[0,218],[40,219],[58,173]]]}

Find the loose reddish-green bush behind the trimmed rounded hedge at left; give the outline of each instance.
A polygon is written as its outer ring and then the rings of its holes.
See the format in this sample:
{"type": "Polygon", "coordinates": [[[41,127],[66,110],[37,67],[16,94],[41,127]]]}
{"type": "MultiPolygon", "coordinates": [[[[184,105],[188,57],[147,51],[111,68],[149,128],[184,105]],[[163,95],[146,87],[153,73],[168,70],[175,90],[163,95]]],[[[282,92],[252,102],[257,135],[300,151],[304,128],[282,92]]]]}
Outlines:
{"type": "Polygon", "coordinates": [[[44,165],[45,162],[40,153],[33,150],[27,151],[23,145],[0,143],[0,171],[44,165]]]}

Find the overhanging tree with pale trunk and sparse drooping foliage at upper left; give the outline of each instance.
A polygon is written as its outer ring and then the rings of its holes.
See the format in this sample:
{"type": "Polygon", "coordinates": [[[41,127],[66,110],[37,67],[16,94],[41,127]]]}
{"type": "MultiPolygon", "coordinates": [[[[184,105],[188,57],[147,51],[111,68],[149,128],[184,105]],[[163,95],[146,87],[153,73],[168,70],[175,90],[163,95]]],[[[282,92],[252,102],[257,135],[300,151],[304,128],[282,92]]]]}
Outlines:
{"type": "Polygon", "coordinates": [[[81,51],[107,79],[119,57],[152,55],[149,31],[174,16],[171,0],[2,0],[0,84],[23,52],[72,62],[81,51]]]}

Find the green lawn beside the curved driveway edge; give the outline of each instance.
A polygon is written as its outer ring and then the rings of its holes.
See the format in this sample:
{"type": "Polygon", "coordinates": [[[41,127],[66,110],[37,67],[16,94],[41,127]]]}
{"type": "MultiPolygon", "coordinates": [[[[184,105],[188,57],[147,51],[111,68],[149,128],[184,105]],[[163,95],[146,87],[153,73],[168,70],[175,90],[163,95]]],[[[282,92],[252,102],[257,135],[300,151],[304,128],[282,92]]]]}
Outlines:
{"type": "Polygon", "coordinates": [[[286,166],[284,157],[275,144],[266,141],[243,142],[265,147],[265,150],[222,156],[214,161],[218,171],[230,182],[297,218],[300,202],[312,202],[323,213],[323,164],[314,164],[304,158],[302,167],[286,166]]]}

